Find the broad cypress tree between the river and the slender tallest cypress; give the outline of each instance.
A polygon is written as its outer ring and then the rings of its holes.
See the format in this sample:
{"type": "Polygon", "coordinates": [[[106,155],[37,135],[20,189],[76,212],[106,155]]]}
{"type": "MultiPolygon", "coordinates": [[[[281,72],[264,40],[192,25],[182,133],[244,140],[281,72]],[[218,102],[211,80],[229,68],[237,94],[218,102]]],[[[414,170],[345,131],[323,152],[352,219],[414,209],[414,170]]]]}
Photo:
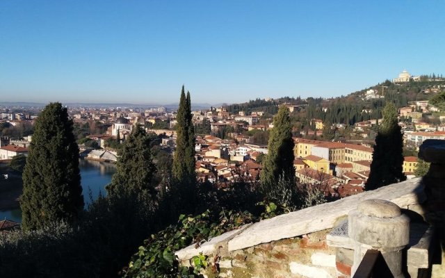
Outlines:
{"type": "Polygon", "coordinates": [[[149,137],[142,127],[136,126],[124,141],[118,156],[117,171],[113,174],[111,183],[106,186],[108,196],[154,197],[156,193],[151,181],[156,167],[152,161],[149,137]]]}

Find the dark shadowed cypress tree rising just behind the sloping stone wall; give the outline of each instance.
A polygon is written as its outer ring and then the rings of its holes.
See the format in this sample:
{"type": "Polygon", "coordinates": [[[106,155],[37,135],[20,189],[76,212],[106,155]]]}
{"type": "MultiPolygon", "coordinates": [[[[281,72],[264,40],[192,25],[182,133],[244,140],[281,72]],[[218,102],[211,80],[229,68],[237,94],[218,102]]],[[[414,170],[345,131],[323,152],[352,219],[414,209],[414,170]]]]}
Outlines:
{"type": "Polygon", "coordinates": [[[403,134],[401,126],[398,125],[396,106],[387,102],[382,114],[383,120],[375,137],[366,190],[374,190],[406,179],[403,174],[403,134]]]}

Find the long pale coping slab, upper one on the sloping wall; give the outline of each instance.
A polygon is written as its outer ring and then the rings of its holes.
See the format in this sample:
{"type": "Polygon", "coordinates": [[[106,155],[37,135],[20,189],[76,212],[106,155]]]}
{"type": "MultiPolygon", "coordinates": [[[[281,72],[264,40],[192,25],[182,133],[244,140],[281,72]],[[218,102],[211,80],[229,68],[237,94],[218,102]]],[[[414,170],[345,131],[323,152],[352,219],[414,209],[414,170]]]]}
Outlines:
{"type": "Polygon", "coordinates": [[[391,184],[377,190],[360,193],[336,202],[312,206],[258,222],[229,240],[229,251],[239,250],[283,238],[293,238],[314,231],[331,229],[341,216],[357,208],[366,199],[385,199],[401,208],[421,204],[425,200],[423,185],[418,179],[391,184]]]}

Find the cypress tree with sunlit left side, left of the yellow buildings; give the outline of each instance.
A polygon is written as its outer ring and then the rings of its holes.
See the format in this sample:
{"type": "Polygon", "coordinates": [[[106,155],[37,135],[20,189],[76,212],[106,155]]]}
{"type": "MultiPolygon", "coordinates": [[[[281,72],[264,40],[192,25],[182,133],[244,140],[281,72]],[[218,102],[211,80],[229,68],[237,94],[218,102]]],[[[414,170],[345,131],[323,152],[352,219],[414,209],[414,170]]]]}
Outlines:
{"type": "Polygon", "coordinates": [[[264,188],[272,186],[280,177],[291,183],[295,180],[291,131],[289,110],[282,106],[273,119],[273,129],[270,131],[268,154],[261,172],[261,184],[264,188]]]}

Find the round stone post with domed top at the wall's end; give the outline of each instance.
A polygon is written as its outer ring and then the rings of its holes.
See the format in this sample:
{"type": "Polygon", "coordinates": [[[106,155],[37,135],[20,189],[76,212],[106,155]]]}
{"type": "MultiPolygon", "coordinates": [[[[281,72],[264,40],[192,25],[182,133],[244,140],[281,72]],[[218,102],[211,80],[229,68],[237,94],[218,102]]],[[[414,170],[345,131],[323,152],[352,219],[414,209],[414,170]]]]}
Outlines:
{"type": "Polygon", "coordinates": [[[348,234],[355,241],[352,275],[367,250],[379,250],[394,277],[402,272],[402,250],[410,242],[410,218],[394,203],[369,199],[349,212],[348,234]]]}

